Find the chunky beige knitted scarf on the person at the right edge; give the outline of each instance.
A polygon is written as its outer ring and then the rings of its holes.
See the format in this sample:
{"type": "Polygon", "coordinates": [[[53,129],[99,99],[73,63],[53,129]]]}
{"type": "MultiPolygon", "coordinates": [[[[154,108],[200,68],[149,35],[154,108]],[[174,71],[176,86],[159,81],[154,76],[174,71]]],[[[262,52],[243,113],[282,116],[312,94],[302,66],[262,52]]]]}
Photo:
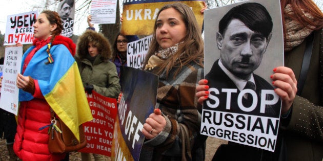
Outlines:
{"type": "MultiPolygon", "coordinates": [[[[301,25],[295,19],[291,19],[287,15],[294,15],[292,6],[288,4],[284,9],[285,27],[286,27],[286,45],[284,50],[291,51],[293,48],[297,47],[304,39],[310,35],[313,30],[301,25]]],[[[313,18],[309,13],[304,13],[305,16],[313,18]]],[[[310,28],[313,26],[309,26],[310,28]]]]}

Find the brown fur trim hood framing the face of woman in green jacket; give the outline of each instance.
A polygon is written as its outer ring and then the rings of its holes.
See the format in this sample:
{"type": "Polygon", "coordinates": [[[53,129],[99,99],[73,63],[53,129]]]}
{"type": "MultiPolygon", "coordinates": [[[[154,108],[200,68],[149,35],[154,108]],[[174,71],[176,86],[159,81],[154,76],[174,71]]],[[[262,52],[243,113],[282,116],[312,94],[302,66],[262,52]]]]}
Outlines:
{"type": "Polygon", "coordinates": [[[101,33],[86,30],[77,41],[76,54],[81,60],[85,59],[89,54],[88,45],[90,42],[96,46],[103,60],[109,60],[111,58],[112,52],[109,40],[101,33]]]}

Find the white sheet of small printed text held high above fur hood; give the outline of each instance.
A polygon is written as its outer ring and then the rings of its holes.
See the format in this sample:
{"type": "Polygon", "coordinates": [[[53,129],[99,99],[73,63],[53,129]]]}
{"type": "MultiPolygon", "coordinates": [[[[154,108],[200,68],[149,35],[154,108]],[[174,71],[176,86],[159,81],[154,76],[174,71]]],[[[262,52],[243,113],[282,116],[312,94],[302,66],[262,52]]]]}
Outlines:
{"type": "Polygon", "coordinates": [[[116,0],[92,0],[91,1],[91,23],[93,24],[115,24],[116,0]]]}

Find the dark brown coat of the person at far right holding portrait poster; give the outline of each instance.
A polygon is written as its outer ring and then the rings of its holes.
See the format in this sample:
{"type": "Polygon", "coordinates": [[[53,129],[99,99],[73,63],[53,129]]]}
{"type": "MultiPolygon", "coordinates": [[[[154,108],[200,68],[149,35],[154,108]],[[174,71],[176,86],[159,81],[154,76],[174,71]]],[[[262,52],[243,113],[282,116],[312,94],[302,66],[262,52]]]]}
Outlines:
{"type": "MultiPolygon", "coordinates": [[[[285,66],[298,80],[306,42],[285,53],[285,66]]],[[[301,96],[293,102],[290,118],[282,119],[288,160],[323,159],[323,35],[315,32],[310,67],[301,96]],[[289,120],[290,119],[290,120],[289,120]]]]}

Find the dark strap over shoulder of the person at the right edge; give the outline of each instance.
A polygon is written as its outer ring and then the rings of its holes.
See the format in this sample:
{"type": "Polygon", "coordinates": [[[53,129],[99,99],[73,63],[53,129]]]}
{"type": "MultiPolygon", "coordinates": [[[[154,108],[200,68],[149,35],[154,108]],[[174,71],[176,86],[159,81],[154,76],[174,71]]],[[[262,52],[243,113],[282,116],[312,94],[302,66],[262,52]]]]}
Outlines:
{"type": "Polygon", "coordinates": [[[311,57],[312,57],[312,49],[313,49],[313,43],[314,43],[314,32],[312,32],[307,38],[306,38],[306,48],[304,51],[304,58],[301,64],[300,74],[297,81],[297,95],[300,96],[301,91],[304,87],[305,80],[307,73],[309,71],[311,57]]]}

